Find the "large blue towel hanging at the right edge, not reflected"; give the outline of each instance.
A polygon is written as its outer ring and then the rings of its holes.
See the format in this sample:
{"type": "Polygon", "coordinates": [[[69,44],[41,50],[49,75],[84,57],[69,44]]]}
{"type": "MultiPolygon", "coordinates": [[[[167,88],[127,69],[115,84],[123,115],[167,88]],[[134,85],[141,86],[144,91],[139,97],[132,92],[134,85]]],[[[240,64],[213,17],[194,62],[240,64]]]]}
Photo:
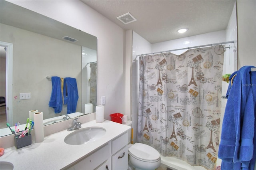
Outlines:
{"type": "Polygon", "coordinates": [[[222,170],[254,169],[256,73],[251,67],[239,69],[229,89],[218,153],[222,170]]]}

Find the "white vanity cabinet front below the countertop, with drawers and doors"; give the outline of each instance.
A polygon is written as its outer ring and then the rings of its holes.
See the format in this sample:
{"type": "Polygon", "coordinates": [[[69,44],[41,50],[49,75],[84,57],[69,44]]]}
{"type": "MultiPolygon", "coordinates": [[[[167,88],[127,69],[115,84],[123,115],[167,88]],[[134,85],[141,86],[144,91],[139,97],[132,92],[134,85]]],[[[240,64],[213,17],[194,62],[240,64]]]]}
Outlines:
{"type": "Polygon", "coordinates": [[[75,162],[67,170],[127,170],[128,169],[128,132],[121,134],[99,147],[86,158],[75,162]]]}

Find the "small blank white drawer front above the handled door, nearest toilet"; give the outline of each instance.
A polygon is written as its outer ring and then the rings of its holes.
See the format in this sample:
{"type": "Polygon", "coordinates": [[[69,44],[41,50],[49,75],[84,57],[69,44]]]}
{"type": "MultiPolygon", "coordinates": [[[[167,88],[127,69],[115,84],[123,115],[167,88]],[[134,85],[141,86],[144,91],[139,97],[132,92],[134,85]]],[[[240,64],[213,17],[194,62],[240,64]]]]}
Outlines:
{"type": "Polygon", "coordinates": [[[127,144],[128,144],[128,132],[125,132],[121,136],[118,136],[118,138],[112,140],[111,153],[115,154],[118,150],[120,150],[127,144]]]}

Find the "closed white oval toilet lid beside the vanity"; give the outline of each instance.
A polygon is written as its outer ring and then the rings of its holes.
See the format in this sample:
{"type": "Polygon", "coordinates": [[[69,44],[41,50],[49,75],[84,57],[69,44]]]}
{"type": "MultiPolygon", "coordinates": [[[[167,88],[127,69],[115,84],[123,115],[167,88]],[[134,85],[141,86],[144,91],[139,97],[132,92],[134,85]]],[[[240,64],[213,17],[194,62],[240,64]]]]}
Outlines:
{"type": "Polygon", "coordinates": [[[142,160],[158,160],[160,157],[159,152],[155,148],[142,143],[135,143],[128,151],[142,160]]]}

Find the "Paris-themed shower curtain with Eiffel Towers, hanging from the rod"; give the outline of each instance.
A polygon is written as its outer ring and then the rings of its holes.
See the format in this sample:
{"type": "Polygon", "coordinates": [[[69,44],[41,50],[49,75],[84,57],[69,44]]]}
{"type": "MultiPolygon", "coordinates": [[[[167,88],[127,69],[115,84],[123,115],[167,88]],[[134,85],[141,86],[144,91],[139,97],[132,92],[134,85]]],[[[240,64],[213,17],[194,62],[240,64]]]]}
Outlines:
{"type": "Polygon", "coordinates": [[[140,57],[138,142],[192,166],[216,166],[224,46],[140,57]]]}

